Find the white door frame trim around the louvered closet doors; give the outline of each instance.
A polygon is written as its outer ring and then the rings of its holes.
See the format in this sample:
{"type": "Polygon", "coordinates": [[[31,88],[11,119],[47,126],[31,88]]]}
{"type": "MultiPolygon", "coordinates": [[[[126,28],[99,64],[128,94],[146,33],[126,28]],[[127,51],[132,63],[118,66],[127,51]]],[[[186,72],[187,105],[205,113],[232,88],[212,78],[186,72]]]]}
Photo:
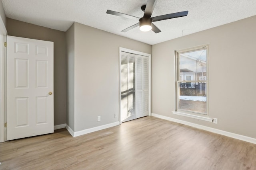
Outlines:
{"type": "MultiPolygon", "coordinates": [[[[143,56],[146,56],[148,57],[148,103],[149,103],[149,115],[151,116],[152,115],[152,100],[151,100],[151,54],[148,54],[148,53],[143,53],[143,52],[140,52],[140,51],[135,51],[135,50],[131,50],[131,49],[126,49],[126,48],[123,48],[123,47],[119,47],[119,124],[121,124],[121,52],[126,52],[126,53],[132,53],[132,54],[135,54],[135,55],[143,55],[143,56]]],[[[136,86],[135,86],[136,88],[136,86]]],[[[136,95],[136,94],[135,94],[136,95]]],[[[135,106],[136,107],[136,106],[135,106]]]]}

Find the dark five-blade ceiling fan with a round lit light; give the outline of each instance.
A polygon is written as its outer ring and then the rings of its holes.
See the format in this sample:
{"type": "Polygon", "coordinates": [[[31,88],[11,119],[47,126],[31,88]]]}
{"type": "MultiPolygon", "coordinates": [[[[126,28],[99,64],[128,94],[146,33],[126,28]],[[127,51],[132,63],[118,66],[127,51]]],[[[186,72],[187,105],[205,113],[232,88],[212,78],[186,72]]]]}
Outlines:
{"type": "Polygon", "coordinates": [[[171,18],[184,17],[184,16],[188,15],[188,11],[183,11],[183,12],[176,12],[176,13],[172,13],[172,14],[166,14],[166,15],[162,15],[162,16],[151,17],[153,10],[156,6],[156,2],[157,2],[157,0],[148,0],[146,5],[141,6],[141,10],[144,12],[144,16],[142,18],[138,18],[135,16],[131,16],[128,14],[123,14],[123,13],[115,12],[115,11],[111,11],[111,10],[107,10],[107,14],[112,14],[115,16],[130,18],[130,19],[139,21],[138,23],[122,30],[122,32],[127,32],[135,27],[140,26],[141,31],[149,31],[152,29],[152,31],[154,31],[155,33],[160,33],[161,30],[158,29],[158,27],[156,27],[156,25],[154,25],[154,23],[152,23],[152,22],[168,20],[171,18]]]}

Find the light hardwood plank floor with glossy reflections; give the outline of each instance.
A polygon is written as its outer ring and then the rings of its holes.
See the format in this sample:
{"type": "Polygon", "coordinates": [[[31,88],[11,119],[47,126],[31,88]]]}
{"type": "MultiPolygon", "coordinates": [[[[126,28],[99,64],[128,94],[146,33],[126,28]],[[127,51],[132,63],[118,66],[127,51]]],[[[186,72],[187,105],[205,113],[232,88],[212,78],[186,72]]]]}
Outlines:
{"type": "Polygon", "coordinates": [[[143,117],[73,138],[66,129],[0,143],[0,170],[256,170],[256,145],[143,117]]]}

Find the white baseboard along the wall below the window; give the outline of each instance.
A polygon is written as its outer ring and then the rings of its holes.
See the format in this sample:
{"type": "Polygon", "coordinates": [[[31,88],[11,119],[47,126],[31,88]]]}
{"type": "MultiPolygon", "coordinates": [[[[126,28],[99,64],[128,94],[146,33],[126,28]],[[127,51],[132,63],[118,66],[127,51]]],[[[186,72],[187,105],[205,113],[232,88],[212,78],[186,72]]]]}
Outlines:
{"type": "Polygon", "coordinates": [[[247,136],[239,135],[239,134],[236,134],[236,133],[222,131],[222,130],[219,130],[219,129],[214,129],[212,127],[198,125],[196,123],[191,123],[191,122],[188,122],[188,121],[174,119],[174,118],[171,118],[171,117],[167,117],[167,116],[163,116],[163,115],[158,115],[158,114],[155,114],[155,113],[152,113],[152,116],[158,117],[160,119],[165,119],[165,120],[168,120],[168,121],[173,121],[173,122],[176,122],[176,123],[181,123],[183,125],[188,125],[188,126],[196,127],[198,129],[203,129],[203,130],[206,130],[206,131],[209,131],[209,132],[212,132],[212,133],[217,133],[217,134],[220,134],[220,135],[224,135],[224,136],[227,136],[227,137],[232,137],[234,139],[239,139],[239,140],[242,140],[242,141],[246,141],[246,142],[250,142],[250,143],[256,144],[256,139],[252,138],[252,137],[247,137],[247,136]]]}

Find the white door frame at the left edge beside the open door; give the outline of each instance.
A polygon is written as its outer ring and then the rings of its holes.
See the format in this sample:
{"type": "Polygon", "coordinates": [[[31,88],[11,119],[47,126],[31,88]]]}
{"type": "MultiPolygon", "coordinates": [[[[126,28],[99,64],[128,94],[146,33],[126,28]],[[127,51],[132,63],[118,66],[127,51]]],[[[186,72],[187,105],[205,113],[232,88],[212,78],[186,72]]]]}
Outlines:
{"type": "Polygon", "coordinates": [[[7,75],[6,75],[6,47],[4,47],[4,42],[6,42],[7,30],[0,17],[0,143],[7,141],[7,128],[4,127],[4,123],[7,121],[7,75]]]}

